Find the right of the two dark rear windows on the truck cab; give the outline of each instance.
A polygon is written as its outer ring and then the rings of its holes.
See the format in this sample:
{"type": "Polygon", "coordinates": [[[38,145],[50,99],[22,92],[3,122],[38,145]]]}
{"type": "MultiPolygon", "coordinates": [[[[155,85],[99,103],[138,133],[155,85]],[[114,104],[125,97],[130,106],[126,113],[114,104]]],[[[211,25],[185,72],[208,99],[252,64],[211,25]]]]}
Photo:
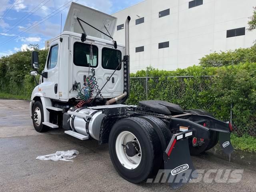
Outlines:
{"type": "MultiPolygon", "coordinates": [[[[104,69],[115,70],[122,60],[122,53],[120,50],[110,49],[104,47],[102,49],[102,67],[104,69]]],[[[120,65],[117,70],[121,69],[120,65]]]]}

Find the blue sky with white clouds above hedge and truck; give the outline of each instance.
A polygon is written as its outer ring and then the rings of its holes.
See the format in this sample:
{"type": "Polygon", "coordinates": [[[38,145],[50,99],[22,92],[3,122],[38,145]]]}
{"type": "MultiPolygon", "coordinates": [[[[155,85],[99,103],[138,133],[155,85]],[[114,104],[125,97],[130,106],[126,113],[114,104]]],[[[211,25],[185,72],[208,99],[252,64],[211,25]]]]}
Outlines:
{"type": "Polygon", "coordinates": [[[0,0],[0,57],[26,50],[60,34],[71,2],[107,14],[118,12],[142,0],[0,0]]]}

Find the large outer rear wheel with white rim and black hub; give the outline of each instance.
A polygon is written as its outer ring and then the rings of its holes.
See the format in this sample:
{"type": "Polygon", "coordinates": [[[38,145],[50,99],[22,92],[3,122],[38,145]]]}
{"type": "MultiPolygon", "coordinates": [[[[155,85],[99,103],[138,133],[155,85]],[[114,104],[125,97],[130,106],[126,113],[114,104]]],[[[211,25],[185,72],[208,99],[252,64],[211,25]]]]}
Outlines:
{"type": "Polygon", "coordinates": [[[114,167],[120,176],[129,182],[139,183],[147,178],[153,178],[160,168],[160,139],[152,125],[142,118],[124,118],[116,122],[110,131],[108,145],[114,167]],[[140,160],[130,160],[138,154],[128,156],[126,147],[130,142],[129,137],[133,143],[137,143],[136,149],[140,150],[140,160]],[[123,138],[122,144],[120,138],[123,138]]]}

